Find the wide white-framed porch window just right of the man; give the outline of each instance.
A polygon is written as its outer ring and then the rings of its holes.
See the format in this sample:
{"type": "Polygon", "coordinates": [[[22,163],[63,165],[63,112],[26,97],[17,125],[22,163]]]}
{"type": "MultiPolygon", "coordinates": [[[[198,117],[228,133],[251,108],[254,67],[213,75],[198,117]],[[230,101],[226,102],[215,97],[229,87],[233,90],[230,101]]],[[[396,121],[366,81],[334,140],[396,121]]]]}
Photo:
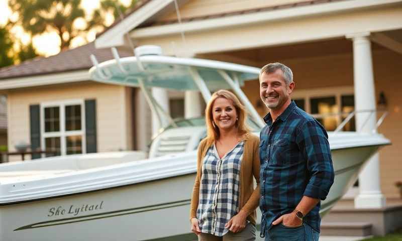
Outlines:
{"type": "MultiPolygon", "coordinates": [[[[352,86],[295,90],[292,99],[296,105],[312,114],[327,131],[334,131],[354,110],[352,86]]],[[[355,131],[354,117],[343,131],[355,131]]]]}

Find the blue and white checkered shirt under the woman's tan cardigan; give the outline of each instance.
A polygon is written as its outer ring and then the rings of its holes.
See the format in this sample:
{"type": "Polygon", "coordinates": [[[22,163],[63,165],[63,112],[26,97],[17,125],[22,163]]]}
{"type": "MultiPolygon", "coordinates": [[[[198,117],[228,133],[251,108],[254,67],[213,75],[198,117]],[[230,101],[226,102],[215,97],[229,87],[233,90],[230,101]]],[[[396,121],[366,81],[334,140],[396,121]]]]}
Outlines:
{"type": "Polygon", "coordinates": [[[212,145],[203,160],[197,219],[204,233],[223,236],[225,224],[238,213],[240,166],[244,141],[219,158],[212,145]]]}

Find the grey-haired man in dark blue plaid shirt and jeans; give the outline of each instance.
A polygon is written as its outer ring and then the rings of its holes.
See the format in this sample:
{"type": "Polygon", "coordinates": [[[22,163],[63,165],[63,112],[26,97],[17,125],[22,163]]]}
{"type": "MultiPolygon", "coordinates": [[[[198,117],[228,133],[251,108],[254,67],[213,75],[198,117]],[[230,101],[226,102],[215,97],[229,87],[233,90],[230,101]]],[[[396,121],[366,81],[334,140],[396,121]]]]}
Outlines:
{"type": "Polygon", "coordinates": [[[318,241],[320,200],[335,176],[327,132],[291,101],[290,68],[267,64],[259,79],[261,100],[269,108],[260,133],[260,235],[265,241],[318,241]]]}

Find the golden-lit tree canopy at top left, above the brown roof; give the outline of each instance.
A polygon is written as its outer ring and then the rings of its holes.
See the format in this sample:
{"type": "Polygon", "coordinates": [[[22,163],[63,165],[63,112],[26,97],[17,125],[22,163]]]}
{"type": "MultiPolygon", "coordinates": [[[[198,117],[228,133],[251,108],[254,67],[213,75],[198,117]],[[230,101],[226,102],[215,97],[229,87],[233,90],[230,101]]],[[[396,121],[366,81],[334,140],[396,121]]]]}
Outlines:
{"type": "MultiPolygon", "coordinates": [[[[134,6],[132,0],[131,6],[134,6]]],[[[92,18],[88,20],[81,7],[81,0],[9,0],[9,6],[13,12],[19,14],[16,24],[21,24],[25,31],[32,36],[44,32],[56,32],[60,38],[60,48],[66,49],[71,40],[78,36],[85,36],[94,27],[105,27],[105,15],[112,11],[118,16],[115,9],[118,0],[104,0],[101,8],[94,11],[92,18]],[[86,26],[77,27],[76,21],[82,20],[86,26]]],[[[120,5],[123,12],[127,9],[120,5]]],[[[130,6],[128,7],[130,8],[130,6]]]]}

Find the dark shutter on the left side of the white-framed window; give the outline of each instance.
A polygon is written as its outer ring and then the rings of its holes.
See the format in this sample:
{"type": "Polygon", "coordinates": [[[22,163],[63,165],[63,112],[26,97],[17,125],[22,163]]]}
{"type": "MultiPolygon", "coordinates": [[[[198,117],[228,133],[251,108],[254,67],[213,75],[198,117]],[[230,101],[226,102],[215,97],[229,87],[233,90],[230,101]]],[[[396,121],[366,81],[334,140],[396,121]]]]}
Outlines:
{"type": "MultiPolygon", "coordinates": [[[[41,125],[40,125],[40,107],[39,104],[29,106],[29,122],[31,132],[31,150],[35,151],[41,148],[41,125]]],[[[32,159],[41,158],[41,154],[32,154],[32,159]]]]}

